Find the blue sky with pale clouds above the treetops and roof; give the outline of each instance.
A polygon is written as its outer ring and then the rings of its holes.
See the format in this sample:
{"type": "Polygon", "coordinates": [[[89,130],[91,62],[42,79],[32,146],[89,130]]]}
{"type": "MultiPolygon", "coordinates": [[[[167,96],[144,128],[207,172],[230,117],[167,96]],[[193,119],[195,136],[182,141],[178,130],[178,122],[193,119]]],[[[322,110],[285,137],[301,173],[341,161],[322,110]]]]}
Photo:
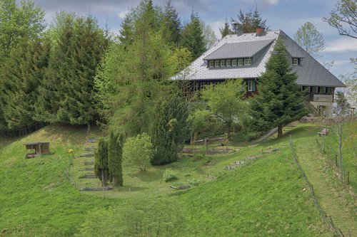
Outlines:
{"type": "MultiPolygon", "coordinates": [[[[108,24],[111,31],[119,33],[122,19],[128,9],[138,5],[139,0],[32,0],[46,11],[46,22],[51,23],[54,14],[59,11],[74,11],[80,16],[91,14],[98,19],[99,25],[108,24]]],[[[153,0],[154,5],[164,6],[166,0],[153,0]]],[[[334,61],[331,73],[341,78],[341,74],[353,72],[349,58],[357,58],[357,40],[348,36],[339,36],[336,28],[323,22],[329,16],[337,0],[171,0],[181,21],[188,21],[191,11],[208,23],[221,38],[219,27],[225,19],[236,19],[239,9],[246,13],[256,7],[269,29],[282,30],[291,38],[303,23],[310,21],[323,34],[325,49],[320,63],[334,61]]]]}

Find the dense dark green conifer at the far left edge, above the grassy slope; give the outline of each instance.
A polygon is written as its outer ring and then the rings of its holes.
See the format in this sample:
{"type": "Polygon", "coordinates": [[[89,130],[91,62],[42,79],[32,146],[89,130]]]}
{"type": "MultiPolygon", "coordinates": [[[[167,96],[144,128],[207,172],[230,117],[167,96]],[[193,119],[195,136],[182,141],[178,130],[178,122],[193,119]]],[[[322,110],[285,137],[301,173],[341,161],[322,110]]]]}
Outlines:
{"type": "Polygon", "coordinates": [[[34,123],[37,88],[48,58],[46,44],[34,39],[13,50],[3,63],[1,110],[9,129],[25,128],[34,123]]]}

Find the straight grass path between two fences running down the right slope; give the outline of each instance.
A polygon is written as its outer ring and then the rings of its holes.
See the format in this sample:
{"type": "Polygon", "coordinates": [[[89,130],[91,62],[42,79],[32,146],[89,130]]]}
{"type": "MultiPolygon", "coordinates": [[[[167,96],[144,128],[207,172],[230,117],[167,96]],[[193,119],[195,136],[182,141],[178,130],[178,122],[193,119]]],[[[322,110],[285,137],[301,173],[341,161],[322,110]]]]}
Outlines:
{"type": "Polygon", "coordinates": [[[315,147],[314,137],[306,137],[311,142],[304,140],[299,146],[296,142],[298,160],[303,168],[308,180],[313,185],[313,189],[322,206],[323,211],[331,216],[334,223],[341,229],[344,236],[357,236],[357,220],[353,218],[349,209],[345,205],[343,196],[333,187],[333,184],[326,179],[323,169],[326,167],[325,161],[320,158],[315,147]],[[306,145],[308,144],[308,145],[306,145]]]}

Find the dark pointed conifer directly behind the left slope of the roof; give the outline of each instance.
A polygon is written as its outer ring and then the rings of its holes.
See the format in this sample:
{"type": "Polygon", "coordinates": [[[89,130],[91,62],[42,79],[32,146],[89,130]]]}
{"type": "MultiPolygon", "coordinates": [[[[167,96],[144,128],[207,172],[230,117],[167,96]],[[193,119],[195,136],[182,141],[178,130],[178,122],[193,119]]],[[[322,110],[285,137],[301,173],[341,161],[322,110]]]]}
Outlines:
{"type": "Polygon", "coordinates": [[[191,21],[183,26],[180,45],[191,51],[193,60],[206,51],[202,25],[194,12],[191,14],[191,21]]]}

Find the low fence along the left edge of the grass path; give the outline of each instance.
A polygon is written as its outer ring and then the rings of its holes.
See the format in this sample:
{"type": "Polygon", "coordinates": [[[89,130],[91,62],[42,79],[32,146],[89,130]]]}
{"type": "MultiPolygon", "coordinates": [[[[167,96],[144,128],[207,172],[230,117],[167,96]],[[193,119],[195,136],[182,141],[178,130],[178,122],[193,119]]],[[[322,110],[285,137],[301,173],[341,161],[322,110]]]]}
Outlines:
{"type": "MultiPolygon", "coordinates": [[[[296,165],[298,166],[298,169],[300,170],[301,174],[303,174],[303,177],[305,178],[306,184],[308,184],[308,189],[310,189],[310,191],[311,191],[313,204],[315,204],[315,206],[317,207],[318,211],[320,212],[320,214],[321,214],[321,216],[323,218],[323,221],[326,221],[326,223],[328,223],[328,225],[333,229],[333,231],[338,236],[344,237],[341,229],[339,229],[337,226],[335,226],[331,216],[327,216],[326,212],[323,211],[322,207],[318,203],[318,200],[316,199],[316,196],[315,196],[315,191],[313,190],[313,185],[310,183],[310,181],[308,181],[308,177],[306,176],[305,172],[303,171],[303,168],[301,167],[300,163],[298,162],[298,156],[296,155],[296,149],[295,149],[295,146],[293,144],[293,139],[291,138],[291,135],[290,135],[289,145],[290,145],[291,153],[293,155],[293,159],[294,159],[296,165]]],[[[351,237],[351,234],[350,234],[350,237],[351,237]]]]}

